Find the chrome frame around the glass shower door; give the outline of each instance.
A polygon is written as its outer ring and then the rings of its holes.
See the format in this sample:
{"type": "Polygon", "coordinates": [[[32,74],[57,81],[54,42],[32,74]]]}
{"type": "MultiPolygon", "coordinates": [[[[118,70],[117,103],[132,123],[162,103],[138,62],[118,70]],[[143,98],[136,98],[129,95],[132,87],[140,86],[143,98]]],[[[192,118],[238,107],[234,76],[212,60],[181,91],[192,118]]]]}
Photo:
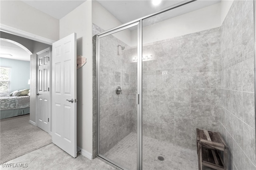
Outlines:
{"type": "Polygon", "coordinates": [[[96,90],[96,132],[97,132],[97,138],[96,138],[96,155],[101,160],[107,161],[111,163],[116,168],[122,168],[120,164],[117,164],[113,160],[110,160],[106,158],[105,156],[101,155],[99,153],[99,147],[100,147],[100,38],[106,37],[107,35],[111,35],[113,33],[117,33],[119,31],[123,31],[125,29],[129,29],[130,27],[137,26],[137,33],[138,33],[138,46],[137,46],[137,169],[142,169],[142,20],[137,21],[135,23],[130,23],[129,25],[124,25],[123,27],[118,27],[116,29],[112,29],[111,31],[107,31],[104,33],[100,33],[100,35],[96,35],[96,84],[97,84],[97,90],[96,90]]]}

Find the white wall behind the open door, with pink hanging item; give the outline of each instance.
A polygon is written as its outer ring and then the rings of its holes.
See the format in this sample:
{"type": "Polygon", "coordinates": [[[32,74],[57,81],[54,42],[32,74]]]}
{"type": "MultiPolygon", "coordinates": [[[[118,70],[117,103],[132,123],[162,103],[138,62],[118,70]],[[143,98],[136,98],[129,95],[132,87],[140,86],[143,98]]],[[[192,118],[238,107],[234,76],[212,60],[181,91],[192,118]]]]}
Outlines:
{"type": "Polygon", "coordinates": [[[92,154],[92,1],[60,19],[60,39],[76,32],[77,55],[87,63],[77,70],[77,146],[92,154]]]}

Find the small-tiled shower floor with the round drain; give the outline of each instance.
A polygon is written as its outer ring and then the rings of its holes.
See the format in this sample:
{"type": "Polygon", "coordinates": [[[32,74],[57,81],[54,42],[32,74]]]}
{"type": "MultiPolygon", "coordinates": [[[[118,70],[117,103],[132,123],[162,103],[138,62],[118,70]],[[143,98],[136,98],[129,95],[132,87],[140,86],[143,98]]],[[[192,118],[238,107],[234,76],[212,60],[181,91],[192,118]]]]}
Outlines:
{"type": "MultiPolygon", "coordinates": [[[[142,137],[142,168],[144,170],[197,170],[196,150],[153,139],[142,137]],[[163,156],[164,161],[158,160],[163,156]]],[[[130,133],[112,149],[104,154],[122,168],[137,169],[137,134],[130,133]]]]}

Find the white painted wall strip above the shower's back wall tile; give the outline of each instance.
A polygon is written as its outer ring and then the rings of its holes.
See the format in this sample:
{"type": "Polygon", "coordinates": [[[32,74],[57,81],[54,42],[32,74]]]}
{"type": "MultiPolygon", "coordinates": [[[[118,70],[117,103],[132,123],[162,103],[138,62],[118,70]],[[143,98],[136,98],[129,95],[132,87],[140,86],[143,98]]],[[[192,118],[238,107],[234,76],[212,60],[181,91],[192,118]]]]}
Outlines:
{"type": "MultiPolygon", "coordinates": [[[[143,44],[220,27],[220,25],[220,3],[218,3],[143,27],[143,44]]],[[[132,40],[135,42],[132,46],[135,46],[136,30],[132,31],[132,40]]]]}

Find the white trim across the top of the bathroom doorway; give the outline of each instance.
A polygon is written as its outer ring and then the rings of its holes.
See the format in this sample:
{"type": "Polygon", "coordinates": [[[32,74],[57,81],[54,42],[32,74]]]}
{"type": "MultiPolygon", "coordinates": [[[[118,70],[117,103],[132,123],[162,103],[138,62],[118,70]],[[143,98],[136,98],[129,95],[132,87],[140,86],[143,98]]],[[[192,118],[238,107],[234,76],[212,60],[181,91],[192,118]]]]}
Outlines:
{"type": "Polygon", "coordinates": [[[40,43],[45,43],[45,44],[49,44],[49,45],[52,45],[52,43],[55,42],[52,39],[41,37],[39,35],[32,34],[32,33],[29,33],[29,32],[26,32],[26,31],[23,31],[23,30],[20,30],[20,29],[16,29],[14,27],[10,27],[10,26],[4,25],[4,24],[0,24],[0,31],[10,33],[10,34],[13,34],[13,35],[18,35],[20,37],[24,37],[24,38],[27,38],[27,39],[32,39],[34,41],[38,41],[40,43]]]}

